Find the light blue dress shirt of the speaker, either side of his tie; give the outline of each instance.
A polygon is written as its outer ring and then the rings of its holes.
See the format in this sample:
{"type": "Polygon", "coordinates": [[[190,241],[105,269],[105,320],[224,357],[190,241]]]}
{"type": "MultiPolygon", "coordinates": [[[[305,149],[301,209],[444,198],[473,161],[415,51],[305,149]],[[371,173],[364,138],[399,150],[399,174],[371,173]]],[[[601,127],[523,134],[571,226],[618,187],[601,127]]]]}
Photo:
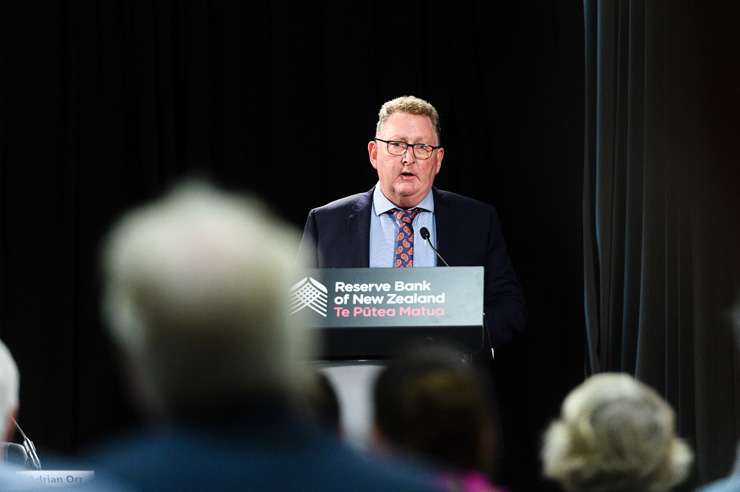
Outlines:
{"type": "MultiPolygon", "coordinates": [[[[437,228],[434,223],[434,195],[431,190],[416,207],[423,209],[412,223],[414,228],[414,266],[437,266],[437,255],[429,244],[421,238],[422,227],[429,229],[429,240],[437,247],[437,228]]],[[[398,224],[389,210],[398,208],[380,191],[380,183],[373,191],[373,209],[370,212],[370,267],[393,268],[393,247],[395,246],[398,224]]],[[[411,207],[414,208],[414,207],[411,207]]]]}

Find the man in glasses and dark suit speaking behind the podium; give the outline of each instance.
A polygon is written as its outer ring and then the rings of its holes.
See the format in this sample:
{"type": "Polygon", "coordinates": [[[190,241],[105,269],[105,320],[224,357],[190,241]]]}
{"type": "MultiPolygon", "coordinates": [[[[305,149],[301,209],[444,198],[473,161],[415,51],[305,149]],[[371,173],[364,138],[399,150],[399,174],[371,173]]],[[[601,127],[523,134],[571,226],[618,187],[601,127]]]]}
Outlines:
{"type": "Polygon", "coordinates": [[[404,96],[380,109],[368,143],[378,184],[308,214],[302,250],[309,266],[485,267],[485,323],[492,347],[524,329],[522,290],[494,207],[433,187],[444,158],[439,116],[427,101],[404,96]],[[309,253],[310,252],[310,253],[309,253]]]}

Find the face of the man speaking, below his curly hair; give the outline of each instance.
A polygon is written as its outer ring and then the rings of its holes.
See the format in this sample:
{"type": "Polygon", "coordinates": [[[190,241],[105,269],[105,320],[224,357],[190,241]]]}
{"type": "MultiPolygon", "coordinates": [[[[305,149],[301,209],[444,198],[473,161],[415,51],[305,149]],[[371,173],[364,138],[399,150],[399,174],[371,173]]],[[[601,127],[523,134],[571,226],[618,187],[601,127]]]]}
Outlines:
{"type": "MultiPolygon", "coordinates": [[[[393,113],[377,137],[408,144],[439,144],[432,121],[427,116],[409,113],[393,113]]],[[[429,159],[417,158],[411,147],[403,155],[393,155],[384,142],[375,140],[367,144],[367,151],[370,163],[378,171],[380,190],[401,208],[413,207],[426,196],[444,158],[442,148],[434,150],[429,159]]]]}

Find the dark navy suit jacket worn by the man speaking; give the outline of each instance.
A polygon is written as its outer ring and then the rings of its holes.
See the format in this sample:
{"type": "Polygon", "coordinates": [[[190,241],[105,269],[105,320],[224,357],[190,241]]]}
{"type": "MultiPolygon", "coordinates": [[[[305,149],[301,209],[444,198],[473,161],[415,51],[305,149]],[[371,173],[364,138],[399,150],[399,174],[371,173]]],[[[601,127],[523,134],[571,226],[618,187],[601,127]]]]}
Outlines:
{"type": "MultiPolygon", "coordinates": [[[[525,316],[522,289],[496,209],[456,193],[436,188],[432,192],[437,249],[450,266],[485,267],[485,323],[492,345],[501,346],[524,330],[525,316]]],[[[371,189],[311,210],[301,240],[308,266],[367,267],[372,204],[371,189]]]]}

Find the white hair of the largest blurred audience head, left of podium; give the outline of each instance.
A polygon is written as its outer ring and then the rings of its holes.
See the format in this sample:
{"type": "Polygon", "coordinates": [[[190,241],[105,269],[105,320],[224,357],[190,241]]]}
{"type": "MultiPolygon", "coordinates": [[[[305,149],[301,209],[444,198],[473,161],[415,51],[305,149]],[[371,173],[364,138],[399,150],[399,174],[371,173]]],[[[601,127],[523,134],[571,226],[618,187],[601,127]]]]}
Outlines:
{"type": "Polygon", "coordinates": [[[256,200],[198,182],[115,226],[104,314],[145,399],[171,410],[300,389],[312,339],[287,316],[296,238],[256,200]]]}

